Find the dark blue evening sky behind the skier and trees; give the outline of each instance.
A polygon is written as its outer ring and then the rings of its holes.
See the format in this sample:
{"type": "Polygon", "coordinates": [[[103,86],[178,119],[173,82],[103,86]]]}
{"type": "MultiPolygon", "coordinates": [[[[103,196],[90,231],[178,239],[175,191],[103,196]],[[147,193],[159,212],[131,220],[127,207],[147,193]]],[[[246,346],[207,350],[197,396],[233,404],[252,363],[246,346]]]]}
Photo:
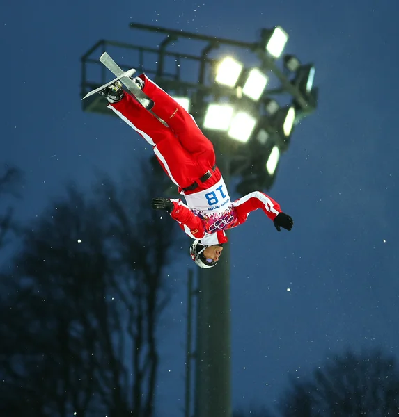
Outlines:
{"type": "MultiPolygon", "coordinates": [[[[2,5],[0,161],[26,172],[19,219],[40,215],[70,180],[88,188],[97,170],[118,179],[152,155],[116,117],[81,109],[79,59],[97,40],[156,47],[128,27],[139,22],[253,42],[258,29],[279,24],[290,35],[285,51],[315,63],[320,99],[295,129],[268,192],[292,215],[292,231],[277,233],[259,211],[229,234],[233,406],[272,406],[289,373],[308,373],[346,347],[398,354],[399,4],[72,3],[2,5]]],[[[184,403],[191,260],[187,248],[176,256],[175,296],[159,341],[157,402],[165,417],[184,403]]]]}

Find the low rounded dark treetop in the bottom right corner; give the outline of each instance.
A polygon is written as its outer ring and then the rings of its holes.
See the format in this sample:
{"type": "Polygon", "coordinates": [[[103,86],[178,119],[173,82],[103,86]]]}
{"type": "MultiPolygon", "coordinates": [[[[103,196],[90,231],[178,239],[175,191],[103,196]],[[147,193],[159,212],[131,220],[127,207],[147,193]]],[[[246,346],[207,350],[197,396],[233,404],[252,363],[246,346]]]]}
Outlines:
{"type": "Polygon", "coordinates": [[[393,357],[380,350],[347,351],[316,368],[304,381],[292,379],[281,398],[283,417],[373,416],[399,414],[399,372],[393,357]]]}

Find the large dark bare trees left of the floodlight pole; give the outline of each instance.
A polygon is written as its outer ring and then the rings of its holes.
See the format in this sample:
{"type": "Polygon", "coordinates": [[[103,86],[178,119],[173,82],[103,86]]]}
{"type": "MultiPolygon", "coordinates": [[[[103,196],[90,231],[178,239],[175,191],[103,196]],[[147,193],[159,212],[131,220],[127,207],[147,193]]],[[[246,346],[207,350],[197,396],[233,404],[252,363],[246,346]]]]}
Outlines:
{"type": "Polygon", "coordinates": [[[70,186],[24,230],[1,279],[1,416],[153,416],[175,223],[152,211],[157,179],[141,172],[136,190],[70,186]]]}

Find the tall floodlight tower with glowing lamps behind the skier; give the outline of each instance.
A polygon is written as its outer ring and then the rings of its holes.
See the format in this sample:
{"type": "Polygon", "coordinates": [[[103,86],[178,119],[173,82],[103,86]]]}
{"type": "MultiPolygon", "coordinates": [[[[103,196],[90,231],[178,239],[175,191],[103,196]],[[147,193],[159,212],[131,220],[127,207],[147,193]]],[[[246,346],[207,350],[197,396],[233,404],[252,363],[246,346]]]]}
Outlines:
{"type": "MultiPolygon", "coordinates": [[[[88,81],[88,67],[98,68],[98,56],[107,50],[123,69],[133,66],[146,72],[194,116],[214,144],[217,165],[227,186],[230,177],[240,177],[237,186],[240,194],[269,190],[276,178],[279,158],[289,148],[295,124],[315,110],[318,98],[318,90],[313,87],[312,64],[302,65],[295,56],[286,55],[283,70],[277,65],[288,41],[287,33],[280,26],[263,29],[260,39],[250,43],[136,23],[130,26],[166,38],[159,42],[158,48],[97,42],[81,59],[82,97],[107,81],[104,67],[100,70],[101,81],[88,81]],[[167,50],[171,43],[182,38],[205,42],[205,47],[199,55],[167,50]],[[235,54],[211,58],[214,49],[220,46],[251,51],[258,57],[258,65],[245,67],[235,54]],[[114,54],[111,49],[123,49],[123,54],[114,54]],[[93,54],[98,56],[91,58],[93,54]],[[118,55],[129,56],[132,65],[120,63],[118,55]],[[145,60],[144,56],[152,59],[145,60]],[[152,65],[145,65],[148,62],[152,65]],[[183,72],[183,64],[187,62],[191,67],[183,72]],[[198,66],[198,76],[193,75],[197,74],[193,63],[198,66]],[[268,88],[272,75],[279,82],[274,89],[268,88]],[[277,98],[282,95],[290,97],[290,104],[279,104],[277,98]]],[[[93,96],[84,106],[86,111],[104,113],[105,101],[101,96],[93,96]]],[[[231,193],[232,190],[230,196],[231,193]]],[[[215,268],[198,269],[194,417],[230,417],[232,412],[229,246],[224,247],[215,268]]],[[[186,416],[191,416],[189,401],[186,416]]]]}

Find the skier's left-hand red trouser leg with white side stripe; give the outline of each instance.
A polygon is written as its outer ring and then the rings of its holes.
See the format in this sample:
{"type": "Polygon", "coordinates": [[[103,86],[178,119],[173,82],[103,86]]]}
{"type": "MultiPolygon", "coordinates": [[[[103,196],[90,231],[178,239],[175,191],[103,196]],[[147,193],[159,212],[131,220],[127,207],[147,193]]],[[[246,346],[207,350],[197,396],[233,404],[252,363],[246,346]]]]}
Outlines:
{"type": "Polygon", "coordinates": [[[109,104],[108,107],[152,145],[162,168],[177,186],[190,186],[204,174],[206,170],[182,147],[173,131],[159,122],[130,94],[125,94],[121,101],[109,104]]]}

